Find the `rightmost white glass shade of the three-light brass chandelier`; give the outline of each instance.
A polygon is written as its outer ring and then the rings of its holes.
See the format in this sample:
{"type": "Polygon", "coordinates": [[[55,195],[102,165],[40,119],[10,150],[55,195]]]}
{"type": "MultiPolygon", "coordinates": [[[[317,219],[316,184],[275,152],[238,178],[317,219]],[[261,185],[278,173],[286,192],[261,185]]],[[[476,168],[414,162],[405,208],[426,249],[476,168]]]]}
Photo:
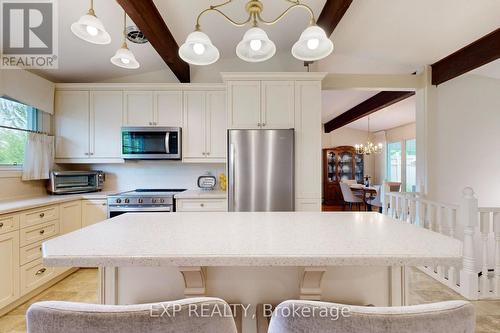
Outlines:
{"type": "Polygon", "coordinates": [[[292,47],[292,55],[302,61],[316,61],[333,52],[333,43],[323,29],[312,25],[302,32],[292,47]]]}

